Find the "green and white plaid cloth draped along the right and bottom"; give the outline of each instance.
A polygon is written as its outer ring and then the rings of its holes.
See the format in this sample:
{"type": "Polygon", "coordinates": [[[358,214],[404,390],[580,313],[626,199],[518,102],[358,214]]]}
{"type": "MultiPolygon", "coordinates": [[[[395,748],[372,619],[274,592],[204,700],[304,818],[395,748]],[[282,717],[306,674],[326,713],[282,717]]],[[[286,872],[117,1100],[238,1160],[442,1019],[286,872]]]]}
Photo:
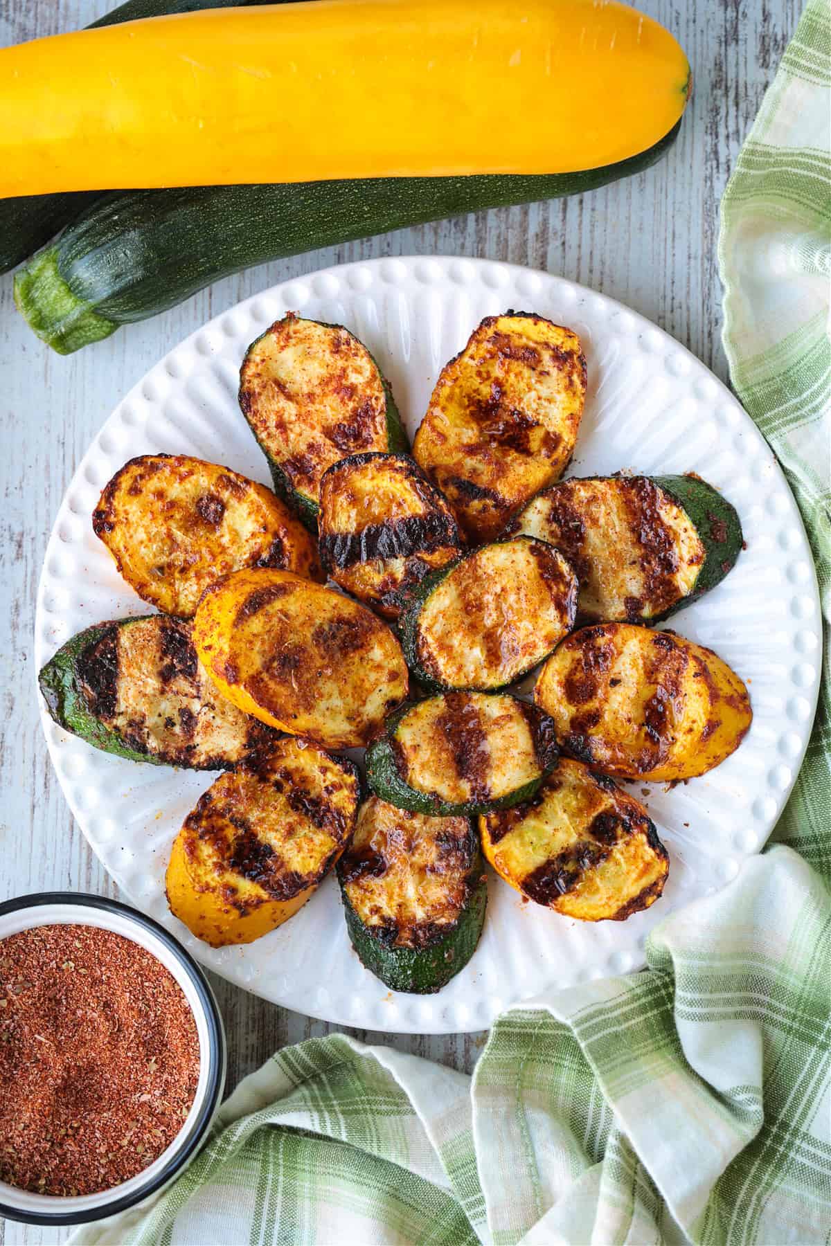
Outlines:
{"type": "MultiPolygon", "coordinates": [[[[811,0],[721,211],[725,348],[831,593],[831,14],[811,0]]],[[[776,830],[649,971],[531,1001],[472,1078],[344,1035],[280,1052],[187,1174],[76,1244],[831,1241],[827,682],[776,830]]]]}

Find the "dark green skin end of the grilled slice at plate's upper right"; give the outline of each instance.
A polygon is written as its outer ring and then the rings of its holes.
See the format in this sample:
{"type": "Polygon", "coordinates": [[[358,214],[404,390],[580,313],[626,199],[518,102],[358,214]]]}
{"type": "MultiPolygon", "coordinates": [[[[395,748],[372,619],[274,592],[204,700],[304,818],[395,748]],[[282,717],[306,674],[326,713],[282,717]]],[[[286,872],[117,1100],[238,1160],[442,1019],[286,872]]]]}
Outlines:
{"type": "Polygon", "coordinates": [[[665,619],[721,583],[744,548],[744,536],[736,508],[706,481],[698,476],[653,476],[652,480],[686,511],[705,549],[693,592],[660,616],[665,619]]]}

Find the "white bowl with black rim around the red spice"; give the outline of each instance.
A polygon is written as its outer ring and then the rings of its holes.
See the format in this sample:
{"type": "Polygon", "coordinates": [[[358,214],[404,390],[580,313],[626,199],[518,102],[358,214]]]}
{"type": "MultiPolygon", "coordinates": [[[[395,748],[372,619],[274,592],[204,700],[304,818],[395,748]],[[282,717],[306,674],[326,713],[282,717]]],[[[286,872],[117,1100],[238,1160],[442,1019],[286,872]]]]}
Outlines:
{"type": "Polygon", "coordinates": [[[130,1181],[100,1194],[60,1197],[17,1190],[0,1181],[0,1216],[31,1225],[80,1225],[125,1211],[156,1194],[187,1168],[222,1100],[226,1083],[226,1035],[208,981],[172,934],[135,908],[101,896],[70,891],[41,892],[0,903],[0,939],[32,926],[98,926],[151,952],[178,982],[193,1012],[199,1037],[199,1080],[182,1129],[157,1160],[130,1181]]]}

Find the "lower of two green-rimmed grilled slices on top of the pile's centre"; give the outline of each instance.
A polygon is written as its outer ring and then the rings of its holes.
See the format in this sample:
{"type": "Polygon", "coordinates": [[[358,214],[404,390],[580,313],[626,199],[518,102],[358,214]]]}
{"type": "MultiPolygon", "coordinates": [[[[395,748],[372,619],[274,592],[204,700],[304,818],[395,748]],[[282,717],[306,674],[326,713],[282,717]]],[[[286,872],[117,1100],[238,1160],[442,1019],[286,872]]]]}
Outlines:
{"type": "Polygon", "coordinates": [[[399,809],[450,817],[528,800],[557,761],[554,724],[506,693],[402,705],[366,750],[366,781],[399,809]]]}

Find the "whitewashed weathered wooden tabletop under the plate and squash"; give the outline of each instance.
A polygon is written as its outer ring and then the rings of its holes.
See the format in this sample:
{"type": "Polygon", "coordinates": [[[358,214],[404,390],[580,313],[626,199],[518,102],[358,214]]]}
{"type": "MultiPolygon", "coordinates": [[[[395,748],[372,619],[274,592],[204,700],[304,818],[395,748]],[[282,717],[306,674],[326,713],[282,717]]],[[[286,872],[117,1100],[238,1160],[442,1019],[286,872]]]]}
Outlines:
{"type": "MultiPolygon", "coordinates": [[[[0,45],[83,26],[107,7],[106,0],[4,0],[0,45]]],[[[620,299],[726,379],[718,204],[801,4],[640,0],[639,7],[680,40],[695,90],[669,156],[629,181],[582,198],[461,217],[255,268],[66,359],[25,328],[11,278],[0,277],[0,900],[52,888],[117,895],[75,825],[46,755],[32,665],[35,592],[52,520],[93,434],[151,364],[204,320],[328,264],[374,255],[483,255],[547,269],[620,299]]],[[[333,1028],[221,979],[214,988],[228,1030],[229,1088],[277,1048],[333,1028]]],[[[485,1040],[483,1034],[351,1033],[466,1070],[485,1040]]],[[[0,1246],[65,1236],[0,1220],[0,1246]]]]}

